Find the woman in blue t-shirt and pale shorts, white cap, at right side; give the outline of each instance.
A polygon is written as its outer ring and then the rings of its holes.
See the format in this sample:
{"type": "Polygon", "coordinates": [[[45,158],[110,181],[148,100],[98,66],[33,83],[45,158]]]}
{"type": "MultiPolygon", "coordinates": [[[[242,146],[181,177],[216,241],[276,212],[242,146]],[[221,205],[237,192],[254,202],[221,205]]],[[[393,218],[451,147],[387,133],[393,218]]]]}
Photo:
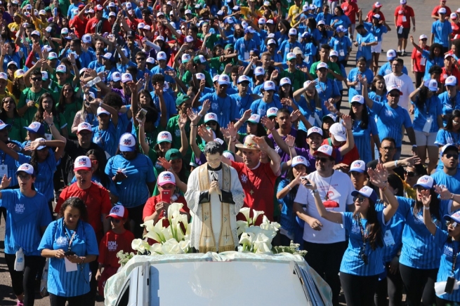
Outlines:
{"type": "Polygon", "coordinates": [[[414,102],[414,133],[417,145],[417,156],[422,163],[426,161],[428,151],[428,173],[435,170],[438,164],[438,148],[435,145],[436,135],[442,124],[442,105],[436,92],[438,82],[430,80],[428,87],[423,83],[413,91],[409,98],[414,102]]]}

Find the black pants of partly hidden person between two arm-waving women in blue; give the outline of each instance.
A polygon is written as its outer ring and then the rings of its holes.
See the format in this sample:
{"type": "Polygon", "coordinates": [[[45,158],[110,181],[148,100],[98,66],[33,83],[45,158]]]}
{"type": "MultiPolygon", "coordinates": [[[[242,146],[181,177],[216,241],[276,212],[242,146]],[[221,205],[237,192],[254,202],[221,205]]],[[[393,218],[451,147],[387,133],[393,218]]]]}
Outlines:
{"type": "Polygon", "coordinates": [[[390,300],[389,306],[402,306],[402,279],[399,269],[395,274],[390,273],[390,262],[386,262],[386,278],[377,284],[374,303],[376,306],[386,306],[386,297],[390,300]]]}

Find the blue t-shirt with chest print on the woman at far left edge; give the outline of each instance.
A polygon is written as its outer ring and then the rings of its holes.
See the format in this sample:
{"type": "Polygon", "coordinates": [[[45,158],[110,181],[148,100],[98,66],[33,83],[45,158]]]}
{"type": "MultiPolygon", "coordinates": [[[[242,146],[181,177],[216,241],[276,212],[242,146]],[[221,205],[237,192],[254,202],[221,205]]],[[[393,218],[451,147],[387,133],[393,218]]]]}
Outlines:
{"type": "Polygon", "coordinates": [[[6,208],[5,253],[39,256],[41,227],[51,222],[51,213],[43,194],[26,197],[20,189],[1,190],[0,207],[6,208]]]}

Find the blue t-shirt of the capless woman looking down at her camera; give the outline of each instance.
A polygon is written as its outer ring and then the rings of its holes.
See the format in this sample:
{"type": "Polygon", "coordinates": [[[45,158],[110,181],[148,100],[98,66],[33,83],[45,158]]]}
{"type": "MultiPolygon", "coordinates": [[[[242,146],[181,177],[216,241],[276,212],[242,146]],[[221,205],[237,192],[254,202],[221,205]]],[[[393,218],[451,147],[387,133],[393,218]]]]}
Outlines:
{"type": "MultiPolygon", "coordinates": [[[[60,218],[48,225],[41,238],[39,251],[45,248],[68,251],[74,231],[68,230],[63,223],[64,218],[60,218]]],[[[79,220],[76,231],[70,251],[75,252],[77,256],[99,255],[98,241],[96,241],[93,227],[79,220]]],[[[87,263],[78,265],[77,271],[66,272],[65,259],[52,257],[48,268],[48,292],[65,297],[86,294],[89,292],[89,275],[89,264],[87,263]]]]}

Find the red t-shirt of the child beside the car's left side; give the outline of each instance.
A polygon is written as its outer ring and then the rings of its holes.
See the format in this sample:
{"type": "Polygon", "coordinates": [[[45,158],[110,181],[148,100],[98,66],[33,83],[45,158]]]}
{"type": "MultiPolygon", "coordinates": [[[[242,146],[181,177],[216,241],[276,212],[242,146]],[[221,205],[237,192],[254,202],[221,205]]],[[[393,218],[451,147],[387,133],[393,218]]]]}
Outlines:
{"type": "Polygon", "coordinates": [[[99,244],[98,262],[105,267],[119,267],[117,253],[134,252],[131,248],[131,241],[134,239],[134,234],[125,230],[123,234],[115,234],[112,230],[105,233],[99,244]]]}

